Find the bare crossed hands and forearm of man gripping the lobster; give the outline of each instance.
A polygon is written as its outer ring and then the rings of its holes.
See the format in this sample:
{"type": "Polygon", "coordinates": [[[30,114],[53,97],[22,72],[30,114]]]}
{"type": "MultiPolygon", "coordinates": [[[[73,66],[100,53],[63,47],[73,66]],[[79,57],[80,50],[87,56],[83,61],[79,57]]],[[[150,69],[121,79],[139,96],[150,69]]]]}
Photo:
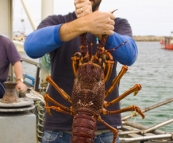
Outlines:
{"type": "Polygon", "coordinates": [[[75,0],[75,8],[78,18],[62,24],[60,28],[62,41],[72,40],[83,33],[91,33],[98,38],[101,38],[101,35],[114,33],[115,16],[112,12],[92,12],[92,4],[89,0],[75,0]]]}

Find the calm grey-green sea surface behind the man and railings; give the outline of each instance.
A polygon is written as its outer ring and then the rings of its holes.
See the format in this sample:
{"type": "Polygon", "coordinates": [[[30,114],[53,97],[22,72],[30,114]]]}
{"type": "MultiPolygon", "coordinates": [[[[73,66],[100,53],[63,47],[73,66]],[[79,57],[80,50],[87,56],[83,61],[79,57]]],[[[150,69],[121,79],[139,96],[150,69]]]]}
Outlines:
{"type": "MultiPolygon", "coordinates": [[[[129,95],[121,101],[121,107],[132,104],[141,109],[173,98],[173,50],[164,50],[159,42],[137,42],[139,55],[137,61],[129,67],[120,83],[120,94],[124,93],[136,83],[142,85],[142,89],[137,94],[129,95]]],[[[28,58],[24,53],[21,55],[28,58]]],[[[30,59],[30,58],[29,58],[30,59]]],[[[38,62],[38,59],[34,60],[38,62]]],[[[35,76],[34,66],[24,63],[24,73],[35,76]]],[[[118,71],[122,65],[118,65],[118,71]]],[[[131,112],[123,113],[123,116],[130,115],[131,112]]],[[[130,119],[132,122],[141,123],[152,127],[161,122],[173,118],[173,103],[168,103],[159,108],[145,112],[146,118],[140,116],[130,119]]],[[[159,128],[166,132],[173,132],[173,123],[159,128]]]]}

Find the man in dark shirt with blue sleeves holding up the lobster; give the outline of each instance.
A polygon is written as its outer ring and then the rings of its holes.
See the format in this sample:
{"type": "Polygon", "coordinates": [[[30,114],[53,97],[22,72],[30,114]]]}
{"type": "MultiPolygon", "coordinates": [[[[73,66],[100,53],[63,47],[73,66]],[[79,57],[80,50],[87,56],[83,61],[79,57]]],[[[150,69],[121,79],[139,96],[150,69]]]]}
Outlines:
{"type": "MultiPolygon", "coordinates": [[[[101,35],[109,35],[105,48],[112,49],[123,42],[127,43],[118,50],[111,52],[115,65],[106,83],[106,89],[110,87],[112,79],[116,77],[117,62],[124,65],[132,65],[138,55],[137,46],[132,38],[132,31],[126,19],[115,18],[111,12],[99,11],[101,0],[75,0],[75,12],[67,15],[52,15],[44,19],[38,26],[38,30],[32,32],[26,38],[24,47],[26,53],[32,58],[39,58],[46,53],[50,54],[51,78],[65,92],[71,95],[74,75],[71,66],[71,57],[79,52],[80,35],[87,33],[88,41],[93,43],[93,54],[96,52],[97,38],[101,35]]],[[[54,87],[49,86],[48,94],[65,106],[70,106],[54,87]]],[[[118,97],[118,86],[106,98],[110,101],[118,97]]],[[[50,104],[54,106],[53,104],[50,104]]],[[[109,107],[109,110],[120,109],[119,103],[109,107]]],[[[42,143],[70,143],[71,126],[73,117],[51,110],[52,116],[46,113],[44,125],[44,137],[42,143]]],[[[121,127],[121,116],[106,115],[102,119],[114,128],[121,127]]],[[[111,143],[113,134],[103,124],[97,124],[95,143],[111,143]]],[[[116,143],[119,143],[117,137],[116,143]]]]}

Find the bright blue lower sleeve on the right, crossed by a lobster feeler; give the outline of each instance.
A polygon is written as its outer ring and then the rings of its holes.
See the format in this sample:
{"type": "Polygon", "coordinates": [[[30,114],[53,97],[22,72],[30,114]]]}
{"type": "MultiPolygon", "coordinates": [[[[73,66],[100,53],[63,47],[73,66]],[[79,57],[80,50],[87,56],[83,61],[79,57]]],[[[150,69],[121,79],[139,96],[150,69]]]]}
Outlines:
{"type": "Polygon", "coordinates": [[[110,50],[114,60],[123,65],[131,66],[138,56],[138,48],[134,39],[127,35],[120,35],[115,32],[108,37],[105,47],[110,50]],[[114,51],[113,49],[116,50],[114,51]]]}

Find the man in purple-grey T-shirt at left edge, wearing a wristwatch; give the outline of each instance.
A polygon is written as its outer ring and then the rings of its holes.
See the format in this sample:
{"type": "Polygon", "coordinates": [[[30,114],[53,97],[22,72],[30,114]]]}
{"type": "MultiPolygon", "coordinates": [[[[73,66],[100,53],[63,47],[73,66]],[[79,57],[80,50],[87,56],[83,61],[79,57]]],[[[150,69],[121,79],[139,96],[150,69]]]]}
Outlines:
{"type": "Polygon", "coordinates": [[[0,98],[2,98],[5,93],[5,87],[3,83],[8,78],[10,63],[14,67],[14,73],[16,75],[17,81],[17,91],[22,90],[25,92],[27,87],[23,83],[21,57],[15,45],[10,39],[0,35],[0,50],[0,98]]]}

